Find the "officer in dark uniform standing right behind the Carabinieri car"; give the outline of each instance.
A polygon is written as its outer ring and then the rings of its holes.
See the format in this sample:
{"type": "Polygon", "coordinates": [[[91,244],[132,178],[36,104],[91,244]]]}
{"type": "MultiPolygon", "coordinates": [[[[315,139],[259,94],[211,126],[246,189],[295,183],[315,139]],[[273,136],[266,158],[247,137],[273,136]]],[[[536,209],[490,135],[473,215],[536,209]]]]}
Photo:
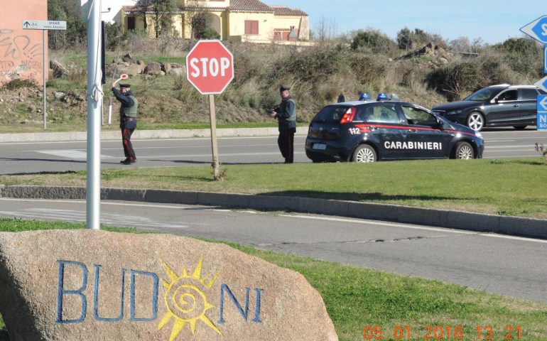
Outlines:
{"type": "Polygon", "coordinates": [[[270,116],[277,119],[279,137],[277,144],[285,163],[293,163],[294,158],[294,133],[296,133],[296,103],[288,92],[290,87],[281,85],[279,94],[281,104],[273,109],[270,116]]]}

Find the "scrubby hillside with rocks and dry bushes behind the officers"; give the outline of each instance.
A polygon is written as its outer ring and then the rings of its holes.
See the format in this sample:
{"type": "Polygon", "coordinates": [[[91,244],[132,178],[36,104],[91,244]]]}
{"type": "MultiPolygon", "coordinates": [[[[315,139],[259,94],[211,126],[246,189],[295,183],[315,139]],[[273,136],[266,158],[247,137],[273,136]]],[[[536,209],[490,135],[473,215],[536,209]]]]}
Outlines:
{"type": "MultiPolygon", "coordinates": [[[[378,92],[394,92],[408,102],[433,107],[487,85],[530,84],[541,77],[541,48],[534,47],[531,40],[514,40],[485,46],[479,53],[459,53],[442,42],[401,50],[391,45],[374,45],[369,40],[359,43],[357,38],[312,48],[225,43],[234,54],[235,77],[223,94],[215,96],[217,122],[220,126],[275,124],[266,115],[266,109],[279,102],[281,83],[292,86],[298,121],[302,123],[325,104],[335,102],[340,92],[348,100],[357,99],[359,90],[373,97],[378,92]]],[[[117,50],[107,52],[105,120],[111,94],[109,83],[118,61],[116,74],[131,67],[131,74],[136,73],[129,82],[139,98],[139,128],[184,128],[200,122],[205,125],[209,120],[207,97],[197,92],[181,72],[189,48],[188,40],[130,36],[117,50]],[[123,62],[127,54],[131,60],[123,62]],[[145,67],[147,73],[137,73],[145,67]]],[[[62,70],[50,69],[48,131],[85,130],[85,50],[51,50],[50,61],[61,65],[62,70]]],[[[114,104],[113,126],[104,129],[117,129],[118,108],[114,104]]],[[[42,115],[41,88],[15,81],[0,89],[0,133],[40,131],[42,115]]]]}

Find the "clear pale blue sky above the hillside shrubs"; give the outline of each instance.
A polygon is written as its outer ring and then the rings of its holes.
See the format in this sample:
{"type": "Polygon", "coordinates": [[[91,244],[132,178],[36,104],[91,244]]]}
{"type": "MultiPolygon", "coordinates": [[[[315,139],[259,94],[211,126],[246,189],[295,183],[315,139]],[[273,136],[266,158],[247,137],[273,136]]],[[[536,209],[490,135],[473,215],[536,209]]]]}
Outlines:
{"type": "Polygon", "coordinates": [[[401,28],[421,28],[448,40],[467,37],[472,42],[502,43],[519,38],[519,28],[547,15],[547,0],[261,0],[305,11],[310,28],[324,18],[337,33],[373,28],[396,38],[401,28]]]}

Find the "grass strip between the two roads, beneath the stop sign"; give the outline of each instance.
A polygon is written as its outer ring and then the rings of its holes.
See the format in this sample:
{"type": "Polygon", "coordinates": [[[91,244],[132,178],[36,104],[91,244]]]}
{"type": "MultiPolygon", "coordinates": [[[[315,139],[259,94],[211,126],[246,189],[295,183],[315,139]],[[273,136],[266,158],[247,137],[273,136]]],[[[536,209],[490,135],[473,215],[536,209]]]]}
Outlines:
{"type": "MultiPolygon", "coordinates": [[[[221,156],[222,162],[222,156],[221,156]]],[[[228,165],[102,170],[102,187],[293,195],[547,219],[541,158],[228,165]],[[279,174],[289,180],[280,181],[279,174]]],[[[0,175],[4,185],[85,186],[85,172],[0,175]]]]}

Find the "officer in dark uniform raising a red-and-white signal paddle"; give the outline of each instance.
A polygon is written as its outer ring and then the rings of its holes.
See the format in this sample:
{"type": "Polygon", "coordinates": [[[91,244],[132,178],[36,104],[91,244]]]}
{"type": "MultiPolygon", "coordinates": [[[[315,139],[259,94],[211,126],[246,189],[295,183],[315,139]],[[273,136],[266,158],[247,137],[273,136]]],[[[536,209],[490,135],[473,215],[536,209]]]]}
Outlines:
{"type": "Polygon", "coordinates": [[[139,102],[131,92],[131,85],[120,84],[116,89],[116,82],[112,83],[112,92],[121,103],[119,108],[119,127],[121,129],[121,141],[124,144],[125,160],[120,161],[122,165],[136,163],[135,151],[131,144],[131,134],[136,129],[136,114],[139,102]]]}

